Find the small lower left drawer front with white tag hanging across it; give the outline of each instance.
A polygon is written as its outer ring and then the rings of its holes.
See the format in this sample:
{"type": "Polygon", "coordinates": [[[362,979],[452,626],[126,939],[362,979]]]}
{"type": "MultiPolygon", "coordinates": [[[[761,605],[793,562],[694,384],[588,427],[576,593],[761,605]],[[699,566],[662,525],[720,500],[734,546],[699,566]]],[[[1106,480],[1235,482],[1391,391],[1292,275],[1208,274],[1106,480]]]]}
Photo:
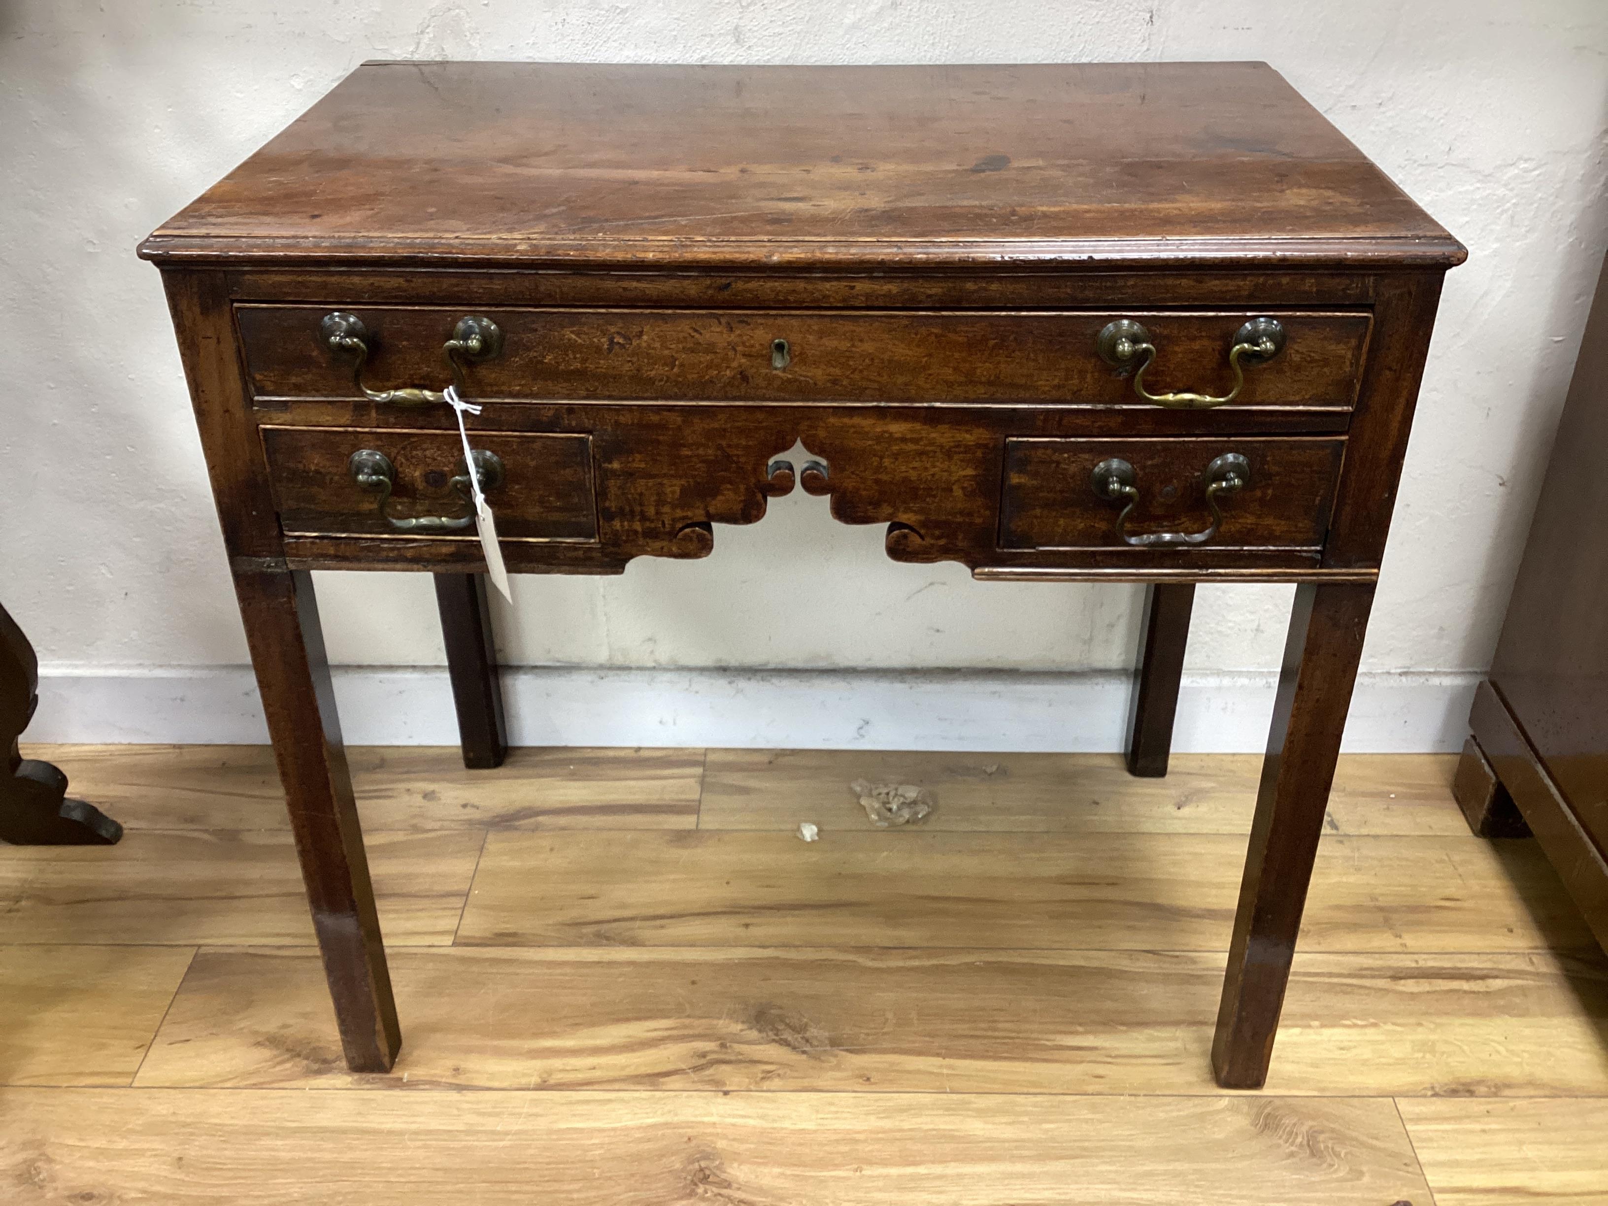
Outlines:
{"type": "MultiPolygon", "coordinates": [[[[463,445],[455,431],[269,426],[260,431],[286,535],[476,539],[461,481],[463,445]],[[362,461],[367,484],[352,471],[352,457],[360,450],[383,457],[362,461]],[[389,481],[388,489],[381,487],[381,478],[389,481]],[[415,523],[421,518],[423,524],[415,523]]],[[[498,537],[597,540],[590,436],[476,431],[471,444],[476,452],[492,453],[502,470],[500,484],[486,490],[498,537]]]]}

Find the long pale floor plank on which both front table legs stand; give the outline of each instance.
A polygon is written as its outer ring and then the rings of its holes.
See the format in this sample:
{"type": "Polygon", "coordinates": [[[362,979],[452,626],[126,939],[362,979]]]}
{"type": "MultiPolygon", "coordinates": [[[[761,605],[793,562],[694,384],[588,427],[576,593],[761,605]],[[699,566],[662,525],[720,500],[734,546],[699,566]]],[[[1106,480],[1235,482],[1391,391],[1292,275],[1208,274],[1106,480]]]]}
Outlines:
{"type": "MultiPolygon", "coordinates": [[[[392,958],[413,1039],[370,1077],[341,1061],[315,952],[204,950],[137,1084],[1212,1093],[1222,966],[1217,952],[415,949],[392,958]]],[[[1603,1095],[1605,1015],[1600,960],[1298,955],[1269,1089],[1603,1095]]]]}

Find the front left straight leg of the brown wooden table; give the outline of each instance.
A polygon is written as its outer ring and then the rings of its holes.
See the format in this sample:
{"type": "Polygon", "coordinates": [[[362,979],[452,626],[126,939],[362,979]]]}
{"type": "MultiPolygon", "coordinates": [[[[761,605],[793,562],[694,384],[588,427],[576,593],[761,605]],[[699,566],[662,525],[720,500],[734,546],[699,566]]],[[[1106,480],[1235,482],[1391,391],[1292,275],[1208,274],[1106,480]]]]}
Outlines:
{"type": "Polygon", "coordinates": [[[388,1073],[402,1045],[368,855],[306,571],[235,574],[346,1063],[388,1073]]]}

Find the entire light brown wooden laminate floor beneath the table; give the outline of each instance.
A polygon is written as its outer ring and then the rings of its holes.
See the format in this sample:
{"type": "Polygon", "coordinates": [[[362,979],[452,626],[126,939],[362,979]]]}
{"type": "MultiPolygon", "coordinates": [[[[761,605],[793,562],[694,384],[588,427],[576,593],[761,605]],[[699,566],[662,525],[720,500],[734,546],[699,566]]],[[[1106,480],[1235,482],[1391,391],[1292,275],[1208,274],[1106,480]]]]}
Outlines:
{"type": "Polygon", "coordinates": [[[1343,759],[1272,1076],[1229,1093],[1254,757],[354,749],[376,1077],[267,749],[27,753],[127,838],[0,847],[5,1206],[1608,1204],[1608,958],[1455,759],[1343,759]],[[875,830],[855,778],[937,812],[875,830]]]}

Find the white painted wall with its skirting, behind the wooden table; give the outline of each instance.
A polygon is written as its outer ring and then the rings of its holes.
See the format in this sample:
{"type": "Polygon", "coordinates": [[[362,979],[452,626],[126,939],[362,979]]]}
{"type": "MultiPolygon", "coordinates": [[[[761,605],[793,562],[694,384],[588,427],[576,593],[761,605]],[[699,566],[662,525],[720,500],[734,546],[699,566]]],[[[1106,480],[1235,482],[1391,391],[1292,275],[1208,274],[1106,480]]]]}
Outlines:
{"type": "MultiPolygon", "coordinates": [[[[1457,740],[1608,243],[1603,0],[0,0],[0,598],[51,680],[31,736],[260,732],[249,683],[220,669],[246,661],[244,640],[158,273],[133,246],[365,58],[1267,59],[1471,252],[1447,281],[1368,635],[1359,706],[1388,719],[1352,733],[1457,740]],[[55,344],[45,315],[68,328],[55,344]],[[212,691],[238,708],[220,712],[212,691]]],[[[442,661],[423,576],[318,585],[338,661],[442,661]]],[[[1130,659],[1137,598],[892,564],[880,529],[833,524],[794,494],[759,526],[717,529],[708,561],[518,579],[498,622],[510,662],[622,667],[563,679],[597,714],[568,727],[534,719],[556,680],[518,675],[526,740],[965,745],[974,725],[991,745],[1053,745],[1053,724],[1034,736],[987,699],[1018,690],[1010,671],[1056,671],[1092,675],[1053,679],[1064,701],[1089,688],[1119,708],[1098,672],[1130,659]],[[677,667],[724,671],[656,677],[677,667]],[[807,680],[838,704],[767,701],[751,672],[770,667],[822,674],[769,695],[807,680]],[[913,667],[978,672],[944,682],[982,703],[925,725],[931,699],[900,712],[878,687],[913,667]],[[621,690],[632,706],[606,706],[621,690]],[[714,703],[733,690],[738,703],[714,703]],[[857,711],[865,732],[838,724],[857,711]]],[[[1261,743],[1254,672],[1277,662],[1286,603],[1278,587],[1201,592],[1185,745],[1261,743]]],[[[450,732],[439,674],[343,682],[352,735],[450,732]],[[381,690],[404,680],[418,690],[381,690]]],[[[1113,740],[1100,724],[1064,732],[1113,740]]]]}

